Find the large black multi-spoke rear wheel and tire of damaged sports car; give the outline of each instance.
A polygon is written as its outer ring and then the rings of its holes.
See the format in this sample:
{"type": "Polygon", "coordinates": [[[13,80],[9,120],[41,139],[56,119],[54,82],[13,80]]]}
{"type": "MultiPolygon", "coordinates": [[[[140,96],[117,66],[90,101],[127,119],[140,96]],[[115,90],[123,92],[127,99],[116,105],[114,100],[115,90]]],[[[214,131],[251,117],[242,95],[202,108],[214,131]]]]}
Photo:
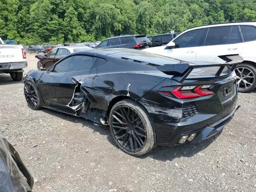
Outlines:
{"type": "Polygon", "coordinates": [[[117,102],[110,111],[109,124],[114,140],[124,152],[140,156],[154,147],[154,124],[138,102],[131,99],[117,102]]]}

